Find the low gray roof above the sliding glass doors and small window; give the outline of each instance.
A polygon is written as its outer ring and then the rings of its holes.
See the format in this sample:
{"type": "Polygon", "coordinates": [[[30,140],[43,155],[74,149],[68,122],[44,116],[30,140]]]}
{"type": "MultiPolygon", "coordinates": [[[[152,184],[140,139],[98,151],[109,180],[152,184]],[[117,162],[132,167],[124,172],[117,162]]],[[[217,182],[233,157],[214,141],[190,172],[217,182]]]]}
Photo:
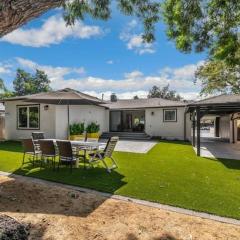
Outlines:
{"type": "Polygon", "coordinates": [[[157,107],[184,107],[186,106],[186,103],[182,101],[172,101],[162,98],[147,98],[117,100],[116,102],[108,102],[103,106],[106,106],[110,109],[140,109],[157,107]]]}

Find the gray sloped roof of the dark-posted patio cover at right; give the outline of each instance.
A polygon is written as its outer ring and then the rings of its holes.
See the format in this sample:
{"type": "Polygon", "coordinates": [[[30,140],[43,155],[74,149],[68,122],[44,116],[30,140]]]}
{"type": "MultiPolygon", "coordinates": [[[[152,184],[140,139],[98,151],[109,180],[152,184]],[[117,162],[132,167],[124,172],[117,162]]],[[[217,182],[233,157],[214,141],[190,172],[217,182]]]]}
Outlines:
{"type": "Polygon", "coordinates": [[[235,104],[240,103],[240,94],[222,94],[210,98],[206,98],[200,101],[196,101],[191,105],[215,105],[215,104],[235,104]]]}

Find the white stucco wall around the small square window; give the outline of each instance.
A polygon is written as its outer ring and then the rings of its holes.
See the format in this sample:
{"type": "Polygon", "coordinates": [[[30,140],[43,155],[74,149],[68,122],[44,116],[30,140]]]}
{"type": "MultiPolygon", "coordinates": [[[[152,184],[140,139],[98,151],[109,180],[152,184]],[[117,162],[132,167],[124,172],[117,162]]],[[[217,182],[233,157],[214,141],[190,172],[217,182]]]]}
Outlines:
{"type": "MultiPolygon", "coordinates": [[[[145,113],[145,132],[154,137],[166,139],[184,139],[184,107],[173,108],[150,108],[145,113]],[[164,122],[163,110],[177,109],[176,122],[164,122]],[[152,115],[152,112],[154,114],[152,115]]],[[[189,124],[188,124],[189,125],[189,124]]]]}

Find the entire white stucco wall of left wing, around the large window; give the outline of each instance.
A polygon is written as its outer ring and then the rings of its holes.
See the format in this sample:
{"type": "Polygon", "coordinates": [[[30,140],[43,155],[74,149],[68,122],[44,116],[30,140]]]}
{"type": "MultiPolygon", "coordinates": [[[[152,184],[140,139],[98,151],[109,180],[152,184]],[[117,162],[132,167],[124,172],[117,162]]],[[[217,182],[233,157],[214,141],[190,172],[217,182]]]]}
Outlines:
{"type": "MultiPolygon", "coordinates": [[[[67,138],[67,106],[40,104],[40,129],[17,129],[17,105],[29,105],[23,101],[6,102],[5,136],[7,140],[24,139],[31,137],[33,131],[45,133],[46,138],[67,138]],[[44,106],[48,105],[48,110],[44,106]]],[[[93,105],[70,106],[70,123],[90,122],[100,124],[100,132],[109,130],[109,111],[103,107],[93,105]]]]}

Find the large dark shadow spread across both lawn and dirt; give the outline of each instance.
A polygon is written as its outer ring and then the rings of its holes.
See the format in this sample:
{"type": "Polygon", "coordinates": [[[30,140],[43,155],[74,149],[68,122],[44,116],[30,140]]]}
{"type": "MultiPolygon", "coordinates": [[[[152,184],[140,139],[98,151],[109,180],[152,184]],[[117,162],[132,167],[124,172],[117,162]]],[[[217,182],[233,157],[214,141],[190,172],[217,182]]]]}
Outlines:
{"type": "Polygon", "coordinates": [[[84,190],[64,187],[54,182],[92,188],[103,192],[114,193],[122,187],[123,175],[113,171],[107,173],[103,168],[73,169],[60,168],[53,171],[52,168],[32,168],[26,165],[14,172],[17,175],[25,175],[36,179],[19,179],[11,175],[9,181],[0,185],[0,211],[21,213],[58,214],[66,216],[86,217],[95,211],[111,195],[105,196],[84,190]],[[53,181],[43,183],[38,179],[53,181]]]}

